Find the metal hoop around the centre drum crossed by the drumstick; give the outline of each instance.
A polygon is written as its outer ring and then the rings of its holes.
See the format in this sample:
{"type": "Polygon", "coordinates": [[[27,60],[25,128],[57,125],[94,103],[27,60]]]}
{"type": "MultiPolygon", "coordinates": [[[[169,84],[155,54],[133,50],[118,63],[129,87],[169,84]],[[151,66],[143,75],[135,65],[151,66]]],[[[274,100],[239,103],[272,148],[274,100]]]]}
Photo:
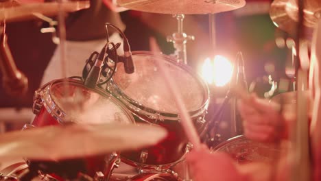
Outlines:
{"type": "MultiPolygon", "coordinates": [[[[166,56],[163,54],[155,54],[151,51],[133,51],[132,55],[144,55],[144,56],[154,56],[156,58],[163,58],[164,60],[167,60],[170,64],[173,64],[176,67],[179,67],[180,69],[183,69],[184,71],[187,71],[190,75],[192,75],[196,80],[198,80],[199,84],[202,86],[203,89],[203,96],[204,96],[204,102],[202,103],[202,106],[198,108],[197,110],[190,110],[189,114],[191,114],[191,117],[199,117],[200,115],[206,114],[206,110],[209,106],[209,87],[207,86],[206,82],[202,80],[200,75],[197,73],[194,73],[190,67],[187,67],[185,64],[180,64],[174,60],[171,56],[166,56]]],[[[179,115],[178,112],[165,112],[161,110],[155,110],[153,108],[148,108],[147,106],[144,106],[143,104],[135,101],[117,86],[115,81],[112,79],[110,83],[107,86],[107,90],[110,91],[110,93],[115,94],[115,97],[120,99],[123,104],[125,104],[130,110],[133,110],[134,112],[139,112],[142,114],[148,115],[151,119],[160,119],[160,120],[172,120],[172,121],[178,121],[179,115]],[[116,90],[116,91],[112,91],[116,90]]]]}

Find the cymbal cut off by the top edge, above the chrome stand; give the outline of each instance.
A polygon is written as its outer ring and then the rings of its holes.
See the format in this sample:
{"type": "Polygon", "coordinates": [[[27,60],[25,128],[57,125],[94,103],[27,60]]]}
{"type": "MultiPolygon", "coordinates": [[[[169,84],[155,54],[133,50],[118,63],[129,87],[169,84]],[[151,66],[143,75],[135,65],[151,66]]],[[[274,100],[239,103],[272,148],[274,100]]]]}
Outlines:
{"type": "Polygon", "coordinates": [[[161,14],[213,14],[242,8],[245,0],[117,0],[124,8],[161,14]]]}

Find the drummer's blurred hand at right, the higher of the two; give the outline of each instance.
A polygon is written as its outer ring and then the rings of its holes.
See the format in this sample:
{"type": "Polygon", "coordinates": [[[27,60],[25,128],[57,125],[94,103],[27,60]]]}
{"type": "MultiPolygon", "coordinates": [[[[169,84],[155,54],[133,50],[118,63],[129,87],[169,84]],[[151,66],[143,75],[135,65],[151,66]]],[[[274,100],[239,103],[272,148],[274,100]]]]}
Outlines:
{"type": "Polygon", "coordinates": [[[267,99],[250,95],[238,102],[238,109],[243,118],[244,134],[255,141],[271,142],[287,136],[285,119],[280,114],[280,106],[267,99]]]}

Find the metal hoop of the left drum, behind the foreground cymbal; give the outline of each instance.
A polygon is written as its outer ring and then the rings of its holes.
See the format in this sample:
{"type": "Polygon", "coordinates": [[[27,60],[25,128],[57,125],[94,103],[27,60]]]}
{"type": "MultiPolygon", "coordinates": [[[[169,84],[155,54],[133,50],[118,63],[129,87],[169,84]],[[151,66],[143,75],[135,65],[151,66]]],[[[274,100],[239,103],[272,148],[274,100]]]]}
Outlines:
{"type": "MultiPolygon", "coordinates": [[[[67,79],[53,80],[53,81],[49,82],[48,84],[45,84],[45,86],[43,86],[42,89],[37,90],[37,91],[39,91],[38,93],[40,95],[41,102],[42,102],[43,106],[46,108],[47,112],[49,112],[49,114],[54,119],[56,119],[58,121],[58,123],[60,123],[62,125],[65,123],[64,117],[66,117],[67,114],[52,99],[52,95],[51,95],[50,90],[51,90],[51,86],[53,86],[53,84],[56,84],[59,82],[64,82],[64,81],[67,81],[67,82],[73,83],[73,84],[79,84],[80,86],[83,86],[84,88],[88,88],[88,87],[84,86],[83,82],[80,80],[74,80],[71,78],[67,78],[67,79]]],[[[123,110],[123,112],[130,119],[130,121],[133,124],[135,124],[134,117],[132,116],[132,114],[130,114],[130,112],[128,111],[126,106],[123,106],[123,104],[121,104],[121,102],[119,100],[117,100],[115,97],[113,97],[112,95],[107,93],[104,89],[96,87],[96,88],[88,88],[88,90],[98,93],[99,95],[101,95],[103,97],[108,96],[108,99],[112,99],[112,102],[117,104],[117,106],[119,106],[121,108],[121,110],[123,110]]]]}

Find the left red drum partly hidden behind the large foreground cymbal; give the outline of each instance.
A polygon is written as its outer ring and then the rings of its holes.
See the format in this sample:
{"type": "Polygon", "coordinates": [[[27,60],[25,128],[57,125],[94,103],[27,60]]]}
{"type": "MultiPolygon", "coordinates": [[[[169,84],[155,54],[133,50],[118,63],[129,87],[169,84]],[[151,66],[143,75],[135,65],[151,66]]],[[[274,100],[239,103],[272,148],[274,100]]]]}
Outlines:
{"type": "MultiPolygon", "coordinates": [[[[36,114],[33,127],[70,122],[134,123],[132,114],[115,97],[101,88],[87,88],[83,82],[73,79],[54,80],[36,90],[33,111],[36,114]]],[[[93,176],[96,171],[106,169],[105,158],[106,155],[80,158],[77,167],[82,166],[86,174],[93,176]]]]}

